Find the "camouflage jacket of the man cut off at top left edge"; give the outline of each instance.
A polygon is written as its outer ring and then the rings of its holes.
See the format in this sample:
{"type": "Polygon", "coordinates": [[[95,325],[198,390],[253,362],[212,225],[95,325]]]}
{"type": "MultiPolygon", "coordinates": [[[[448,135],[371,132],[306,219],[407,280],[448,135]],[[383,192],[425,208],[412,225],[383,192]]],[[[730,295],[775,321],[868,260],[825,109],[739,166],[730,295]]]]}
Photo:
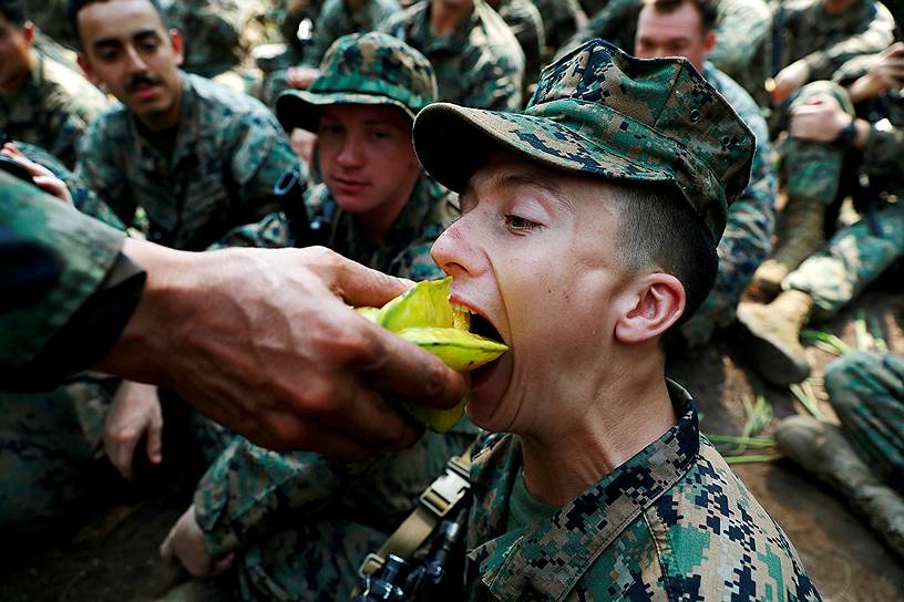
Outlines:
{"type": "Polygon", "coordinates": [[[44,148],[68,167],[75,165],[79,139],[106,105],[82,75],[41,55],[14,96],[0,95],[0,131],[44,148]]]}

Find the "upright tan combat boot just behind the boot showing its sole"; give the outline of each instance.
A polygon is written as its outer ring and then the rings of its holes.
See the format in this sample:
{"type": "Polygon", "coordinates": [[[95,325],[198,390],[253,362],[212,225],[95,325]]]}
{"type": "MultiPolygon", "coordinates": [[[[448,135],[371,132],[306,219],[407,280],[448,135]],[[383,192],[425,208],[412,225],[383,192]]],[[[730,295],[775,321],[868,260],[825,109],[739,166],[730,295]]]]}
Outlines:
{"type": "Polygon", "coordinates": [[[819,199],[799,197],[785,206],[783,226],[772,257],[753,273],[754,290],[771,299],[781,290],[782,280],[804,259],[825,246],[823,219],[825,205],[819,199]]]}

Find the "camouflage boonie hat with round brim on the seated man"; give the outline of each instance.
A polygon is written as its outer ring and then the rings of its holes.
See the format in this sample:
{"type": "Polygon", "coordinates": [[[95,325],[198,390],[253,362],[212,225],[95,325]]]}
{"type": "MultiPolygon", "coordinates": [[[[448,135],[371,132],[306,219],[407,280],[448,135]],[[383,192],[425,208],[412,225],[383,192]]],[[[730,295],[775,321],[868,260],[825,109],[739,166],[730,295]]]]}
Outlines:
{"type": "Polygon", "coordinates": [[[290,90],[276,102],[288,131],[317,131],[320,107],[330,104],[389,104],[411,118],[438,97],[436,76],[427,58],[386,33],[352,33],[336,40],[308,90],[290,90]]]}

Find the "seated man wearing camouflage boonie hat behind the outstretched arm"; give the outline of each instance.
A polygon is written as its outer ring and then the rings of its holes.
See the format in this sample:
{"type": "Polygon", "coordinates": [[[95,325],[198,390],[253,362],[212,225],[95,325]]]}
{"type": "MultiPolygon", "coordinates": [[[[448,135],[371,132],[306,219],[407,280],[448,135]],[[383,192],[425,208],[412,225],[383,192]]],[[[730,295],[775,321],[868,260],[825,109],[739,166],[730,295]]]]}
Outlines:
{"type": "MultiPolygon", "coordinates": [[[[430,247],[458,208],[421,169],[410,134],[414,115],[435,97],[427,59],[371,32],[337,40],[310,89],[279,98],[286,127],[318,133],[323,183],[306,200],[319,242],[394,276],[441,276],[430,247]]],[[[305,245],[279,215],[232,232],[227,242],[305,245]]],[[[245,600],[333,599],[351,590],[364,556],[475,434],[462,421],[407,452],[350,466],[237,439],[202,479],[164,553],[203,575],[235,552],[245,600]]]]}

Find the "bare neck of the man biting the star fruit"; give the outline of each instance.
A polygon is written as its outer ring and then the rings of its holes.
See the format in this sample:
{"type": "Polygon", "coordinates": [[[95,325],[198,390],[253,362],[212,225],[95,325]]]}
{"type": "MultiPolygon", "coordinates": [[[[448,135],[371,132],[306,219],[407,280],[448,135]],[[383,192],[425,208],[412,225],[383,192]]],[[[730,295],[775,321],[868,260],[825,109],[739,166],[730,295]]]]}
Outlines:
{"type": "Polygon", "coordinates": [[[590,399],[567,399],[575,392],[562,392],[565,411],[583,413],[543,436],[521,435],[525,485],[541,501],[568,504],[675,426],[660,353],[631,353],[609,374],[590,399]]]}

